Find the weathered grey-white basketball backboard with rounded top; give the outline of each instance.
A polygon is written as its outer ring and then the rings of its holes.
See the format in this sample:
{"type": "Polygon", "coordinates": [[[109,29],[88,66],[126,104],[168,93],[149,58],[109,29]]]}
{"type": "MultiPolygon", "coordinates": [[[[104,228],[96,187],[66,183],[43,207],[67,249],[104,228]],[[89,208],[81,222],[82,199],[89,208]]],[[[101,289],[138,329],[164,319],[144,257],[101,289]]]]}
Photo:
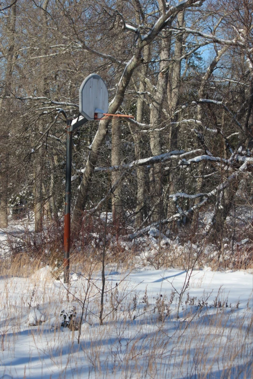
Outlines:
{"type": "Polygon", "coordinates": [[[108,112],[108,90],[104,80],[96,74],[87,76],[79,89],[79,112],[87,120],[102,118],[108,112]]]}

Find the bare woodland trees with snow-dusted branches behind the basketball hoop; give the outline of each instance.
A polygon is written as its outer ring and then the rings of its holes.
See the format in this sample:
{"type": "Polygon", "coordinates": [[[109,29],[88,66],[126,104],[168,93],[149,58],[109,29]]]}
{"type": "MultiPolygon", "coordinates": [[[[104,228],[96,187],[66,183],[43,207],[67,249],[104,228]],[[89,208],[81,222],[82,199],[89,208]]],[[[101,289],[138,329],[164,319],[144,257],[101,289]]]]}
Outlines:
{"type": "MultiPolygon", "coordinates": [[[[203,226],[252,204],[250,0],[17,0],[0,12],[0,227],[63,214],[65,122],[79,86],[105,80],[109,113],[74,135],[73,229],[108,208],[118,234],[203,226]],[[11,5],[11,6],[10,6],[11,5]],[[10,216],[9,216],[10,217],[10,216]],[[86,220],[86,221],[85,221],[86,220]]],[[[248,225],[251,232],[251,224],[248,225]]],[[[233,237],[234,230],[227,231],[233,237]]]]}

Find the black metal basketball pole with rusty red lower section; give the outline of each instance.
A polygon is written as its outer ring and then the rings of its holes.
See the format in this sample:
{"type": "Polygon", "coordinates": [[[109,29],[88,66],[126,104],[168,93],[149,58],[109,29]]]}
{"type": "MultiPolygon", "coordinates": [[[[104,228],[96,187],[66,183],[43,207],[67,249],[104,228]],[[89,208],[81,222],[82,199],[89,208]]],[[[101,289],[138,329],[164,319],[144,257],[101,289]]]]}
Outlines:
{"type": "Polygon", "coordinates": [[[64,283],[69,282],[70,252],[70,197],[71,197],[71,166],[72,166],[72,131],[69,131],[72,120],[67,120],[66,143],[66,183],[65,183],[65,215],[64,215],[64,283]]]}

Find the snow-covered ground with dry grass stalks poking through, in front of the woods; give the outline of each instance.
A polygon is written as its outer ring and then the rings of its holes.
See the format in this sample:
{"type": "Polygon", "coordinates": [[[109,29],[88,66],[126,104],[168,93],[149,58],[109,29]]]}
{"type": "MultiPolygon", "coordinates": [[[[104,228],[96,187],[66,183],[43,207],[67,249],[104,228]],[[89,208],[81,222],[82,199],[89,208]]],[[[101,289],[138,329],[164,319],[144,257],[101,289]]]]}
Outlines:
{"type": "Polygon", "coordinates": [[[253,377],[251,273],[193,271],[177,318],[185,271],[113,270],[102,326],[101,275],[92,266],[77,266],[69,288],[48,267],[2,276],[0,378],[253,377]],[[61,312],[75,306],[78,326],[85,293],[78,343],[61,312]]]}

